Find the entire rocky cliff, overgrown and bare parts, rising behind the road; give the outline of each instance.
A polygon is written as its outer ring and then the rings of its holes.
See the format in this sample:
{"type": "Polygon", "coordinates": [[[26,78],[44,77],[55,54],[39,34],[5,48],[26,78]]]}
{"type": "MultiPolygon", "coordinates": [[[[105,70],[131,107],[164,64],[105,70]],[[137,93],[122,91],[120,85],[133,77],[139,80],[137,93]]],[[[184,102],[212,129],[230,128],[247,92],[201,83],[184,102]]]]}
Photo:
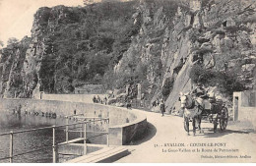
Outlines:
{"type": "MultiPolygon", "coordinates": [[[[123,16],[88,19],[107,7],[111,9],[107,4],[99,8],[93,5],[85,11],[79,9],[76,15],[71,8],[62,6],[38,10],[26,54],[20,55],[18,50],[12,52],[12,57],[23,62],[18,71],[13,70],[17,68],[15,60],[7,58],[7,48],[3,50],[6,56],[1,58],[0,67],[2,94],[14,97],[18,89],[14,90],[11,83],[15,73],[20,74],[23,86],[19,89],[25,91],[23,95],[27,97],[39,90],[72,92],[71,86],[83,77],[67,76],[70,73],[89,76],[91,72],[87,70],[94,66],[95,61],[83,59],[85,54],[108,58],[109,68],[97,75],[94,73],[92,80],[103,78],[102,83],[111,89],[125,89],[127,84],[140,83],[144,100],[150,105],[157,98],[163,98],[167,111],[176,107],[179,92],[191,90],[196,82],[217,86],[225,97],[234,90],[255,88],[256,5],[253,0],[140,0],[122,9],[123,16]],[[114,21],[109,22],[111,19],[114,21]],[[91,23],[96,27],[92,28],[91,23]],[[70,27],[74,28],[70,30],[70,27]],[[91,37],[93,31],[96,35],[91,37]],[[65,32],[75,37],[64,36],[65,32]],[[67,44],[65,37],[72,42],[67,44]],[[74,48],[67,51],[74,54],[73,59],[80,56],[83,60],[63,60],[68,55],[61,49],[70,45],[74,48]],[[51,60],[56,63],[51,65],[51,60]],[[62,66],[67,68],[58,70],[62,66]]],[[[103,62],[106,60],[100,63],[103,62]]]]}

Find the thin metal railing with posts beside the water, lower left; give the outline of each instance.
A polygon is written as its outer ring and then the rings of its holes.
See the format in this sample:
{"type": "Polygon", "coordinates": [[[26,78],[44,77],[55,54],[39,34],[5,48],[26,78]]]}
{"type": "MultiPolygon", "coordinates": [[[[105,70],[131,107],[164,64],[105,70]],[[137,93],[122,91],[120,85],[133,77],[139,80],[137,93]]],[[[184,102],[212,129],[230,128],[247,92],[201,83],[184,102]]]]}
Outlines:
{"type": "MultiPolygon", "coordinates": [[[[79,116],[79,115],[73,115],[73,116],[79,116]]],[[[73,116],[71,116],[71,117],[73,117],[73,116]]],[[[72,124],[69,124],[69,118],[70,117],[66,117],[66,124],[65,125],[36,128],[36,129],[23,130],[23,131],[17,131],[17,132],[11,131],[10,133],[0,134],[0,137],[8,136],[8,135],[10,136],[9,156],[0,158],[0,161],[1,160],[9,159],[9,162],[12,163],[14,157],[25,155],[25,154],[29,154],[29,153],[32,153],[32,152],[35,152],[35,151],[45,150],[45,149],[49,148],[50,145],[49,146],[44,146],[44,148],[39,148],[39,149],[35,149],[35,150],[31,150],[31,151],[26,151],[26,152],[19,153],[19,154],[14,154],[14,136],[16,134],[29,133],[29,132],[35,132],[35,131],[41,131],[41,130],[52,129],[52,145],[51,145],[51,147],[52,147],[52,162],[53,163],[58,162],[58,151],[57,151],[58,145],[64,145],[64,144],[69,144],[69,143],[73,142],[73,141],[69,140],[69,132],[79,132],[79,133],[81,133],[80,138],[82,138],[83,133],[84,133],[84,137],[81,139],[81,140],[84,140],[84,145],[85,145],[85,153],[84,154],[87,153],[86,152],[86,149],[87,149],[86,143],[87,143],[87,139],[89,139],[89,138],[87,138],[87,132],[94,132],[95,134],[96,133],[100,134],[100,135],[97,135],[97,136],[93,136],[91,138],[96,138],[96,137],[100,137],[100,136],[103,136],[103,135],[107,135],[106,145],[109,146],[109,135],[108,135],[109,118],[94,118],[94,117],[87,118],[87,117],[85,117],[85,119],[92,119],[92,120],[90,120],[90,121],[83,121],[83,122],[77,122],[77,123],[72,123],[72,124]],[[107,125],[106,126],[106,132],[96,132],[95,130],[94,131],[87,131],[87,124],[95,123],[95,122],[100,122],[100,121],[101,122],[104,121],[106,123],[106,125],[107,125]],[[82,125],[82,127],[80,127],[82,130],[81,131],[69,131],[69,127],[76,126],[76,125],[82,125]],[[63,127],[65,128],[66,141],[61,142],[61,143],[56,143],[56,129],[57,128],[63,128],[63,127]]]]}

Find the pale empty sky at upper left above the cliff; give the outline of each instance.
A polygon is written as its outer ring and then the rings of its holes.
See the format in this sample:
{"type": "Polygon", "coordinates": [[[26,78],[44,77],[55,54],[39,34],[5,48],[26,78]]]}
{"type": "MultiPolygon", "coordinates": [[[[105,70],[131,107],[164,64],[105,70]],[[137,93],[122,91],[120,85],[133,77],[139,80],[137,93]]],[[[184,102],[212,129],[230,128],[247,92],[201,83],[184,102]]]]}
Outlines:
{"type": "Polygon", "coordinates": [[[31,36],[33,14],[40,7],[57,5],[83,6],[83,0],[0,0],[0,40],[10,37],[21,40],[31,36]]]}

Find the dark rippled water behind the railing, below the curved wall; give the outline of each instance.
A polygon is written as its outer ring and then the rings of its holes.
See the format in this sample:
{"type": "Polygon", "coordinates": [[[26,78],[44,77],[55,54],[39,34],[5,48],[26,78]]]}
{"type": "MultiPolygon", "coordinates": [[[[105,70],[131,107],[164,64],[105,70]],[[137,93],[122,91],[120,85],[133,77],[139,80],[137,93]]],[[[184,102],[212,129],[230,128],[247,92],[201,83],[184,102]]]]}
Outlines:
{"type": "MultiPolygon", "coordinates": [[[[66,123],[66,119],[57,118],[52,119],[48,117],[40,117],[35,115],[17,115],[8,112],[1,112],[0,115],[0,134],[9,133],[10,131],[22,131],[28,129],[50,127],[53,125],[63,125],[66,123]]],[[[70,120],[69,123],[75,123],[74,120],[70,120]]],[[[95,131],[99,131],[97,128],[88,125],[88,130],[94,128],[95,131]]],[[[98,123],[98,126],[100,124],[98,123]]],[[[95,125],[96,126],[96,125],[95,125]]],[[[77,125],[79,127],[79,125],[77,125]]],[[[74,127],[73,127],[74,128],[74,127]]],[[[74,129],[75,130],[75,129],[74,129]]],[[[81,130],[81,129],[77,129],[81,130]]],[[[100,130],[101,131],[101,130],[100,130]]],[[[88,135],[92,136],[92,135],[88,135]]],[[[58,128],[56,130],[56,143],[65,141],[64,128],[58,128]]],[[[69,139],[80,138],[80,133],[70,133],[69,139]]],[[[105,143],[105,137],[96,138],[91,140],[94,143],[105,143]]],[[[0,137],[0,158],[9,156],[10,136],[0,137]]],[[[38,130],[35,132],[14,134],[14,155],[29,152],[32,150],[45,148],[40,151],[34,151],[32,153],[16,156],[13,159],[15,163],[50,163],[52,162],[52,129],[38,130]]],[[[9,162],[9,159],[0,160],[0,163],[9,162]]]]}

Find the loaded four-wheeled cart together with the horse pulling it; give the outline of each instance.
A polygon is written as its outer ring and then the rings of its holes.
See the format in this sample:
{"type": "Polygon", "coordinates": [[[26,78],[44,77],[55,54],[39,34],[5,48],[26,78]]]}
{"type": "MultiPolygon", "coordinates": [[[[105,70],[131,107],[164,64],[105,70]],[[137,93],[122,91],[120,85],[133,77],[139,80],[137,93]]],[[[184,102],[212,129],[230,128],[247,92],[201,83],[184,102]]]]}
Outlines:
{"type": "Polygon", "coordinates": [[[190,93],[181,94],[181,108],[184,109],[184,129],[189,135],[189,121],[192,120],[193,133],[198,128],[201,133],[201,120],[209,119],[214,124],[214,132],[220,124],[222,131],[226,129],[228,122],[228,110],[222,99],[205,97],[195,98],[190,93]],[[196,127],[196,123],[198,126],[196,127]]]}

